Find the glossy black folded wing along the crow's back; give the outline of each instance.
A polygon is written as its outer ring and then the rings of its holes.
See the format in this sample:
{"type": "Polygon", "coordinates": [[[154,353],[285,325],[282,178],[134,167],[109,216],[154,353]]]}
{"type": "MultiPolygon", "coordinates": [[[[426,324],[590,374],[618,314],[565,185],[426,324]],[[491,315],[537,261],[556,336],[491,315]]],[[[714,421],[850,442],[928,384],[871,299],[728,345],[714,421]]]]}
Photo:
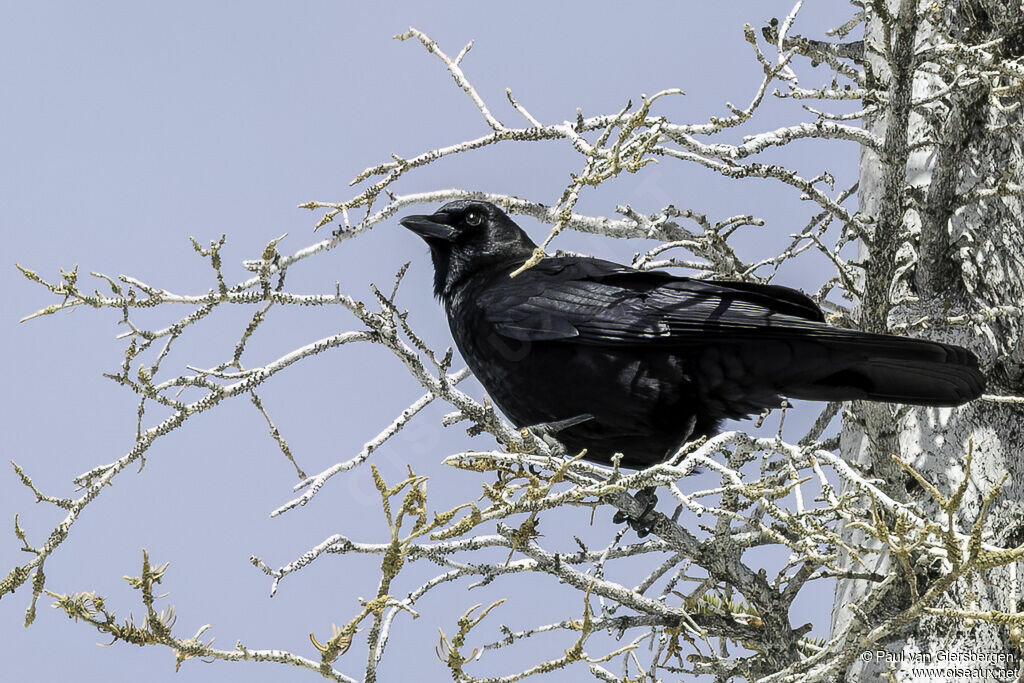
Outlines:
{"type": "MultiPolygon", "coordinates": [[[[477,298],[499,334],[578,344],[680,346],[822,333],[821,310],[785,287],[677,278],[598,259],[545,259],[477,298]]],[[[845,332],[845,331],[844,331],[845,332]]]]}

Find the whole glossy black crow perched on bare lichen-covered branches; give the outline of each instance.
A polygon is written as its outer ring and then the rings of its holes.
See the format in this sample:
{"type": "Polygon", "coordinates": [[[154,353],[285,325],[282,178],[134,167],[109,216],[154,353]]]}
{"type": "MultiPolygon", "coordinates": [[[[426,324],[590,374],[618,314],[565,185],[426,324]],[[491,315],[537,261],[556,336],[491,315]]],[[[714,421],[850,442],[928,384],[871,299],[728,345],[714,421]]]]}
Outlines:
{"type": "Polygon", "coordinates": [[[456,344],[517,426],[570,453],[644,467],[781,398],[959,405],[985,378],[959,346],[827,325],[775,285],[679,278],[596,258],[546,258],[486,202],[401,224],[430,246],[456,344]]]}

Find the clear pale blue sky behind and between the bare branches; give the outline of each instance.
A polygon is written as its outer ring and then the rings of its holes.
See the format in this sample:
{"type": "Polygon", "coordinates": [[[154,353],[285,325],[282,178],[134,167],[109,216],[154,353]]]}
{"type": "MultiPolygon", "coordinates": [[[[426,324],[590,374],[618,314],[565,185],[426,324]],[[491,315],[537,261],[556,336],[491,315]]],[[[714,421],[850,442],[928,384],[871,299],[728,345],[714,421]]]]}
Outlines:
{"type": "MultiPolygon", "coordinates": [[[[809,3],[796,31],[814,34],[847,16],[845,2],[809,3]],[[823,6],[816,6],[823,5],[823,6]]],[[[642,92],[680,87],[687,96],[667,108],[680,121],[726,114],[724,101],[745,105],[761,78],[742,40],[742,25],[784,16],[790,2],[479,3],[395,2],[386,7],[352,2],[33,2],[3,5],[0,23],[0,344],[6,360],[2,393],[4,460],[16,460],[45,492],[74,494],[71,478],[123,455],[133,442],[135,401],[103,379],[123,357],[115,341],[116,311],[76,310],[26,325],[17,319],[53,302],[14,269],[19,262],[45,276],[81,265],[126,272],[175,291],[201,292],[211,280],[187,237],[203,242],[228,236],[226,273],[241,280],[243,258],[257,256],[283,232],[291,252],[313,241],[317,216],[295,209],[308,200],[350,196],[348,180],[390,153],[413,156],[484,132],[478,113],[443,67],[415,41],[391,36],[410,25],[449,52],[476,45],[464,69],[495,113],[519,124],[505,102],[511,87],[546,122],[618,110],[642,92]]],[[[804,68],[804,73],[809,69],[804,68]]],[[[810,72],[812,75],[815,72],[810,72]]],[[[818,78],[824,78],[819,69],[818,78]]],[[[761,128],[793,121],[775,102],[761,128]]],[[[755,132],[744,128],[740,133],[755,132]]],[[[776,159],[782,157],[776,156],[776,159]]],[[[786,151],[807,176],[828,169],[850,178],[856,150],[806,143],[786,151]]],[[[415,173],[396,189],[450,186],[515,194],[553,203],[580,161],[564,143],[485,151],[415,173]]],[[[845,185],[844,185],[845,186],[845,185]]],[[[814,208],[779,185],[727,183],[697,168],[663,164],[588,190],[580,209],[611,213],[616,204],[653,211],[674,203],[721,219],[738,213],[768,224],[742,245],[748,257],[775,253],[814,208]]],[[[425,207],[428,208],[428,207],[425,207]]],[[[537,238],[544,228],[523,225],[537,238]]],[[[566,236],[562,248],[628,260],[642,244],[566,236]]],[[[290,273],[293,291],[344,291],[369,296],[371,282],[389,284],[399,265],[413,267],[402,294],[411,322],[435,347],[450,337],[429,294],[430,268],[421,242],[397,227],[371,234],[290,273]]],[[[816,288],[827,270],[791,268],[781,284],[816,288]]],[[[90,286],[87,282],[83,285],[90,286]]],[[[171,311],[181,314],[181,310],[171,311]]],[[[213,365],[229,353],[251,311],[223,311],[204,322],[197,339],[183,339],[166,368],[213,365]]],[[[140,315],[154,326],[168,313],[140,315]]],[[[250,344],[250,362],[264,362],[308,341],[346,329],[339,310],[275,311],[263,336],[250,344]]],[[[480,390],[470,387],[475,395],[480,390]]],[[[282,374],[263,390],[264,401],[307,472],[354,455],[364,441],[422,394],[389,354],[377,348],[337,349],[282,374]]],[[[385,477],[397,479],[404,463],[431,475],[432,505],[464,500],[475,475],[438,461],[470,440],[461,428],[442,429],[445,411],[425,412],[400,438],[375,456],[385,477]]],[[[241,639],[252,648],[282,647],[315,654],[307,635],[322,640],[332,623],[358,609],[356,598],[376,590],[376,560],[325,557],[288,579],[278,596],[249,563],[257,554],[284,564],[333,532],[384,540],[369,468],[336,477],[313,503],[282,517],[270,510],[292,497],[294,470],[265,433],[262,418],[244,398],[228,401],[162,439],[145,470],[125,472],[83,514],[72,537],[46,564],[48,588],[94,590],[119,616],[142,613],[123,574],[137,574],[141,548],[154,561],[171,561],[163,604],[175,605],[176,633],[203,624],[217,644],[241,639]]],[[[42,543],[62,516],[34,506],[9,469],[0,471],[0,571],[25,561],[11,519],[42,543]]],[[[609,510],[593,527],[588,515],[542,521],[545,543],[571,547],[580,533],[594,544],[613,532],[609,510]]],[[[411,579],[423,578],[422,571],[411,579]]],[[[612,577],[613,578],[613,577],[612,577]]],[[[401,582],[399,595],[413,588],[401,582]]],[[[447,679],[434,656],[437,627],[449,633],[472,603],[507,595],[495,612],[514,629],[582,610],[578,594],[547,577],[519,577],[467,593],[465,585],[438,591],[420,604],[417,622],[399,616],[382,680],[447,679]]],[[[2,678],[11,681],[150,680],[299,681],[308,672],[278,665],[186,663],[174,674],[166,649],[119,643],[99,648],[91,628],[70,623],[40,602],[35,626],[22,627],[30,591],[0,601],[2,678]]],[[[830,593],[808,593],[795,625],[813,621],[825,635],[830,593]]],[[[489,622],[489,621],[488,621],[489,622]]],[[[487,624],[487,623],[485,623],[487,624]]],[[[483,631],[475,643],[495,630],[483,631]]],[[[570,640],[530,643],[521,656],[499,655],[480,673],[518,671],[530,657],[556,656],[570,640]]],[[[596,649],[594,651],[597,651],[596,649]]],[[[338,667],[359,678],[359,643],[338,667]],[[350,660],[349,660],[350,658],[350,660]]],[[[577,680],[583,670],[546,680],[577,680]]]]}

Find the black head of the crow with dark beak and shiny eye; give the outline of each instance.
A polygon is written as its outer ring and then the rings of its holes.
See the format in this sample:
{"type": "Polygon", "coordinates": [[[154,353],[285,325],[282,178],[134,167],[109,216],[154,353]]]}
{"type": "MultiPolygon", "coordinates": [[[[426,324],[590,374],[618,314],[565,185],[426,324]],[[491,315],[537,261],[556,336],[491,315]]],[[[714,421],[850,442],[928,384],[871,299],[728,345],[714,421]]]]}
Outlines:
{"type": "Polygon", "coordinates": [[[525,261],[537,248],[521,227],[488,202],[449,202],[430,216],[406,216],[401,224],[430,246],[434,294],[441,298],[474,271],[525,261]]]}

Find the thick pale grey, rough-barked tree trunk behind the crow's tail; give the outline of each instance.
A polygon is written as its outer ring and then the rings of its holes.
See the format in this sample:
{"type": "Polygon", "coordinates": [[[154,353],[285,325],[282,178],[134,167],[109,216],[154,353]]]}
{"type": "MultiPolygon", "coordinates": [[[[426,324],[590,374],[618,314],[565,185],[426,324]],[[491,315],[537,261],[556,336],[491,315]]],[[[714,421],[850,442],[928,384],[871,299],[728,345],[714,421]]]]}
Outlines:
{"type": "MultiPolygon", "coordinates": [[[[986,393],[1021,394],[1024,108],[1014,105],[1019,104],[1020,90],[999,96],[998,88],[1011,85],[1007,77],[966,76],[951,92],[936,97],[952,82],[952,70],[926,65],[928,71],[936,71],[927,73],[921,63],[914,65],[914,54],[951,40],[978,45],[1001,37],[989,52],[998,59],[1014,59],[1024,51],[1024,11],[1019,2],[998,0],[922,4],[897,0],[886,5],[892,14],[887,20],[876,11],[885,8],[880,5],[885,3],[870,5],[865,58],[868,87],[886,93],[887,102],[867,127],[885,139],[885,154],[865,150],[860,163],[860,210],[876,219],[872,244],[862,248],[866,262],[861,318],[866,329],[876,332],[888,328],[967,346],[981,359],[988,377],[986,393]],[[882,47],[886,34],[888,54],[882,47]],[[919,104],[929,98],[934,101],[919,104]],[[915,146],[927,140],[934,144],[915,146]],[[983,188],[996,191],[975,195],[983,188]],[[956,324],[959,315],[972,322],[956,324]],[[928,324],[916,324],[926,317],[928,324]]],[[[968,76],[978,72],[969,58],[965,63],[968,76]]],[[[940,523],[945,513],[891,455],[898,454],[945,496],[969,476],[953,515],[964,532],[970,532],[978,518],[985,495],[1009,475],[992,503],[985,538],[1001,547],[1016,547],[1024,543],[1021,425],[1020,403],[977,400],[961,409],[854,403],[845,414],[842,452],[848,461],[884,480],[892,498],[911,503],[940,523]],[[968,473],[965,457],[972,447],[968,473]]],[[[862,541],[856,530],[848,529],[847,537],[862,541]]],[[[866,568],[886,574],[891,558],[881,554],[865,561],[874,563],[866,568]]],[[[919,592],[924,592],[935,575],[927,565],[915,569],[919,592]]],[[[934,606],[1022,611],[1020,569],[1018,563],[970,572],[934,606]]],[[[839,583],[834,633],[852,620],[854,635],[862,636],[913,602],[909,582],[901,580],[873,611],[858,615],[848,605],[871,588],[865,581],[839,583]]],[[[1011,642],[1008,626],[924,616],[889,641],[872,645],[871,654],[850,666],[846,680],[880,681],[892,673],[891,680],[932,681],[946,678],[935,667],[1016,668],[1018,647],[1019,639],[1011,642]],[[877,654],[877,649],[891,656],[877,654]],[[1010,664],[1000,664],[998,653],[1005,653],[1010,664]],[[968,660],[957,656],[965,654],[968,660]],[[933,671],[924,671],[927,667],[933,671]]]]}

